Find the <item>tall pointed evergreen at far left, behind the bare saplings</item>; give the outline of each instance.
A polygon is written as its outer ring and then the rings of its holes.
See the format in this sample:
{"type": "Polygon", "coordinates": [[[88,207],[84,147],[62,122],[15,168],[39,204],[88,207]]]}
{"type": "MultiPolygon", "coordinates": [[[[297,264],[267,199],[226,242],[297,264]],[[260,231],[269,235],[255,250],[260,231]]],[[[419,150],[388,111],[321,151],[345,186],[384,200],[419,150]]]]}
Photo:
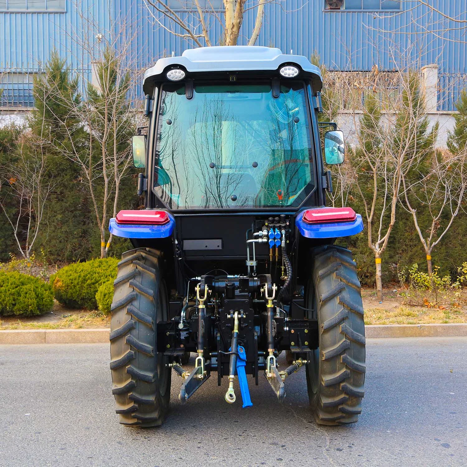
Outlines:
{"type": "Polygon", "coordinates": [[[78,165],[65,157],[63,150],[57,150],[70,149],[71,145],[79,148],[86,139],[75,112],[82,100],[78,77],[71,76],[57,52],[51,53],[43,74],[35,78],[33,95],[35,110],[29,118],[33,144],[46,151],[48,177],[55,184],[37,248],[42,248],[51,261],[76,261],[90,255],[95,223],[78,165]]]}

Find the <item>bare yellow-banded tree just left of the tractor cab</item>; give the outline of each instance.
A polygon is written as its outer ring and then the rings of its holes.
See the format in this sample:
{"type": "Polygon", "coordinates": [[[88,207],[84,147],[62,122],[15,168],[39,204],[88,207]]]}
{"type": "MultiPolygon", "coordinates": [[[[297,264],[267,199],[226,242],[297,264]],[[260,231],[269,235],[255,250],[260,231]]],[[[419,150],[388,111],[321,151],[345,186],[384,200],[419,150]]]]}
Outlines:
{"type": "Polygon", "coordinates": [[[77,163],[88,185],[100,232],[101,258],[107,255],[112,242],[108,234],[109,210],[117,214],[120,185],[131,167],[131,135],[135,133],[136,119],[127,95],[133,79],[138,75],[123,67],[124,57],[106,48],[95,60],[98,86],[88,85],[82,103],[70,102],[70,112],[86,133],[86,141],[74,137],[76,128],[66,127],[68,138],[57,149],[77,163]],[[108,236],[108,238],[107,238],[108,236]]]}

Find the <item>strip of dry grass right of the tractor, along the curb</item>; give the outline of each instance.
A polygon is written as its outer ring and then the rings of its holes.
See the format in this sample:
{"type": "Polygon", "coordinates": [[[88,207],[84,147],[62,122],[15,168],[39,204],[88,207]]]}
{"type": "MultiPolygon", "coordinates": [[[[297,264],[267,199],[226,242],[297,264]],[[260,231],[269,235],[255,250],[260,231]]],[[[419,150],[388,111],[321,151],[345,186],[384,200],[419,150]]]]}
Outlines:
{"type": "MultiPolygon", "coordinates": [[[[384,304],[384,302],[383,302],[384,304]]],[[[439,324],[467,323],[467,313],[459,309],[413,307],[401,305],[396,310],[365,309],[365,324],[439,324]]]]}

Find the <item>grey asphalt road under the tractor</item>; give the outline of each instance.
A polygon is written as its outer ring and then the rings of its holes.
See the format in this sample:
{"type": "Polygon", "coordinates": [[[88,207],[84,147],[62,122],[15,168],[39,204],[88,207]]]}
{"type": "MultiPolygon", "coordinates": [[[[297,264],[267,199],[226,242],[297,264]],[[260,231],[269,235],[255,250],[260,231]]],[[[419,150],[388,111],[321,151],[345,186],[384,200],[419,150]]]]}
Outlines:
{"type": "Polygon", "coordinates": [[[465,466],[466,355],[467,338],[368,340],[363,413],[342,427],[314,423],[304,372],[282,405],[250,384],[250,409],[215,374],[181,406],[174,376],[168,420],[143,430],[118,423],[108,345],[0,346],[0,466],[465,466]]]}

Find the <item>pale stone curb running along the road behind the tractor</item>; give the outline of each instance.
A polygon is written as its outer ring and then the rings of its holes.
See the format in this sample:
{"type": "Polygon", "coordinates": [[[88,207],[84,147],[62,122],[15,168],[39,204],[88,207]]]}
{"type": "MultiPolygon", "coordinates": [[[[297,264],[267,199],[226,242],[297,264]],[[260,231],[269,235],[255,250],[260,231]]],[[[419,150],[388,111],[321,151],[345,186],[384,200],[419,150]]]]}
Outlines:
{"type": "MultiPolygon", "coordinates": [[[[0,344],[102,344],[110,329],[18,329],[0,331],[0,344]]],[[[464,337],[467,323],[365,326],[367,339],[382,337],[464,337]]]]}

